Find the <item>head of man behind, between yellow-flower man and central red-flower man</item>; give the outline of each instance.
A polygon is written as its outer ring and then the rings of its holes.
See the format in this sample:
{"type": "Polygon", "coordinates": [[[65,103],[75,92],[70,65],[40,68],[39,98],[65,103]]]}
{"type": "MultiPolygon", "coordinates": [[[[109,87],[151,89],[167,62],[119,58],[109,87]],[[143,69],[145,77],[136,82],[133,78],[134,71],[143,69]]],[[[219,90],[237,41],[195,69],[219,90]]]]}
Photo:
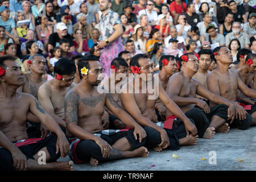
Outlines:
{"type": "MultiPolygon", "coordinates": [[[[126,63],[125,59],[123,59],[122,57],[116,57],[115,59],[113,59],[110,64],[110,68],[115,70],[115,76],[117,76],[117,74],[122,74],[121,78],[127,77],[127,71],[129,69],[129,65],[126,63]]],[[[122,81],[122,79],[119,81],[122,81]]]]}

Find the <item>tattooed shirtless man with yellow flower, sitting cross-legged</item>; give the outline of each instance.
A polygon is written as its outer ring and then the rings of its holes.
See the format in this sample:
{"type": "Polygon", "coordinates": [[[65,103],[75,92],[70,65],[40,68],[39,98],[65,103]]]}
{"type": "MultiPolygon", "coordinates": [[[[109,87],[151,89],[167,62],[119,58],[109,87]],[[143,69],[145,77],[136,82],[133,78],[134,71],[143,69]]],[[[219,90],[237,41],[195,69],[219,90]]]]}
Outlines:
{"type": "Polygon", "coordinates": [[[98,58],[82,57],[77,65],[80,84],[67,93],[64,102],[67,130],[77,137],[71,143],[70,157],[75,163],[90,160],[92,166],[97,166],[98,162],[103,160],[146,158],[148,151],[143,147],[146,142],[146,131],[119,107],[111,94],[98,92],[98,76],[101,76],[102,72],[98,58]],[[101,115],[105,106],[123,123],[134,129],[122,132],[104,130],[101,115]]]}

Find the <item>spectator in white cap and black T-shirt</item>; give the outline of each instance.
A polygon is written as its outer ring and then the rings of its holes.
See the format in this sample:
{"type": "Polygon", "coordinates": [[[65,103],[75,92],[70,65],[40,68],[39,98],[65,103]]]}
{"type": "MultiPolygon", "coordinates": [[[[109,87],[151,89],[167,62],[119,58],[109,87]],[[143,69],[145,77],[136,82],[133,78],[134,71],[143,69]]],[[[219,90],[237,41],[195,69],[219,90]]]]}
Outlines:
{"type": "Polygon", "coordinates": [[[73,38],[71,35],[67,34],[68,27],[64,23],[57,24],[56,32],[49,36],[48,52],[53,49],[53,47],[59,47],[60,40],[65,38],[69,41],[69,52],[75,52],[75,46],[73,44],[73,38]]]}

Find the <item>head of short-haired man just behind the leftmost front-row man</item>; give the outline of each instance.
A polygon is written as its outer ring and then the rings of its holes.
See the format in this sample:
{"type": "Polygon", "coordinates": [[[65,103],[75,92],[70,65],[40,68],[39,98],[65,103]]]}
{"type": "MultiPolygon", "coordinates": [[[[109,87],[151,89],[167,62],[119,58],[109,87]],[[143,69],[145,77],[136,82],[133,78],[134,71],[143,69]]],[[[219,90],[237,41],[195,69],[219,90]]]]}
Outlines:
{"type": "Polygon", "coordinates": [[[28,69],[30,69],[32,73],[37,73],[39,75],[44,74],[47,62],[42,55],[30,56],[28,57],[28,60],[31,61],[31,64],[28,64],[28,69]]]}

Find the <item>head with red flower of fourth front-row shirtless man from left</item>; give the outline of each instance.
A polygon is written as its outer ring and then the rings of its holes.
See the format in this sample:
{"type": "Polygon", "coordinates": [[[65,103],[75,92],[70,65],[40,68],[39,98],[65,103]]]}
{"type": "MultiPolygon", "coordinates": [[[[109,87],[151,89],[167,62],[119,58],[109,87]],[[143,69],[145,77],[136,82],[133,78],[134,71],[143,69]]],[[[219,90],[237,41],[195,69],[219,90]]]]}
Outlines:
{"type": "Polygon", "coordinates": [[[184,72],[193,72],[194,74],[199,69],[199,60],[193,53],[185,53],[180,56],[181,70],[184,72]]]}

